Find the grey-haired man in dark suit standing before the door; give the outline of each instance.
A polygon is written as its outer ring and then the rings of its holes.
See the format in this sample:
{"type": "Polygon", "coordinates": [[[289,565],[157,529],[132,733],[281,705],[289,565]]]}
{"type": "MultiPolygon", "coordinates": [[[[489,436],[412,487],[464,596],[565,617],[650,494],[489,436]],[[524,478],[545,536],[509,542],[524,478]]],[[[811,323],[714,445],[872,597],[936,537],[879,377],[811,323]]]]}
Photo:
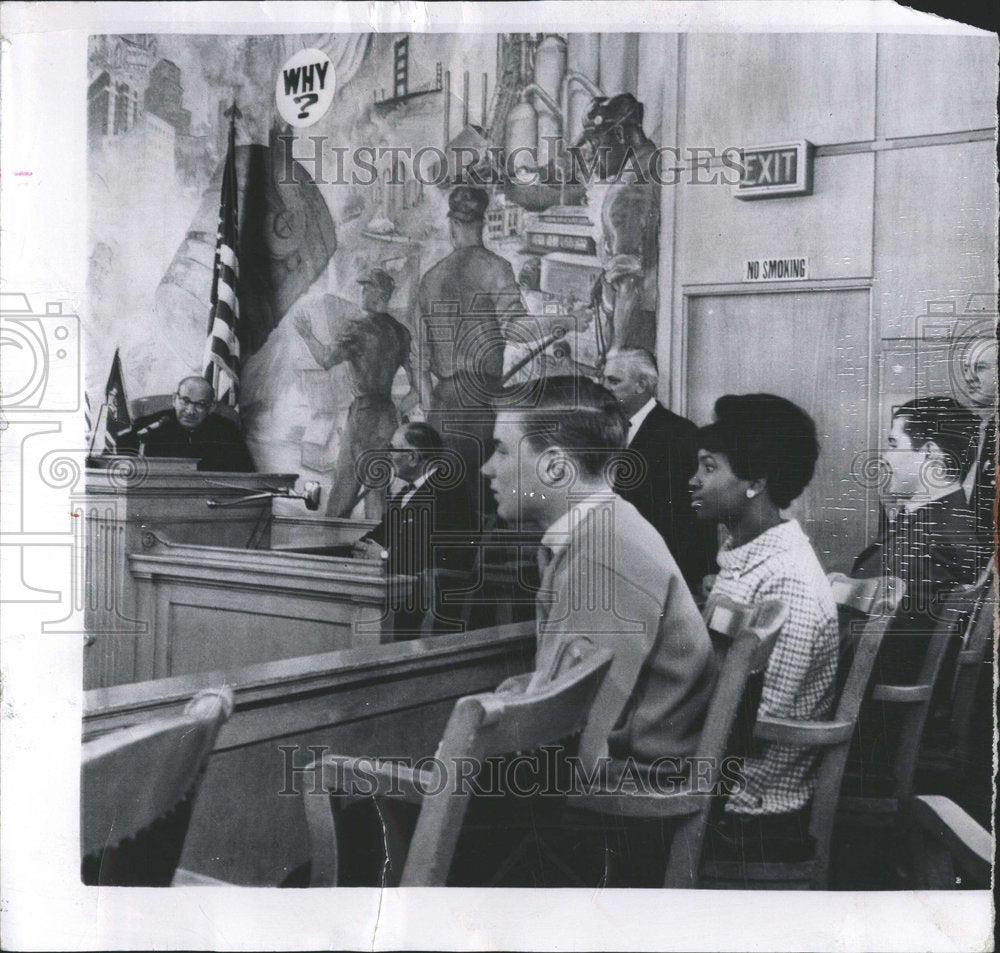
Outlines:
{"type": "Polygon", "coordinates": [[[659,532],[689,588],[698,593],[715,567],[715,528],[691,509],[688,480],[698,468],[697,427],[656,400],[657,370],[645,350],[608,355],[604,386],[628,420],[626,447],[638,456],[615,474],[615,492],[659,532]]]}

